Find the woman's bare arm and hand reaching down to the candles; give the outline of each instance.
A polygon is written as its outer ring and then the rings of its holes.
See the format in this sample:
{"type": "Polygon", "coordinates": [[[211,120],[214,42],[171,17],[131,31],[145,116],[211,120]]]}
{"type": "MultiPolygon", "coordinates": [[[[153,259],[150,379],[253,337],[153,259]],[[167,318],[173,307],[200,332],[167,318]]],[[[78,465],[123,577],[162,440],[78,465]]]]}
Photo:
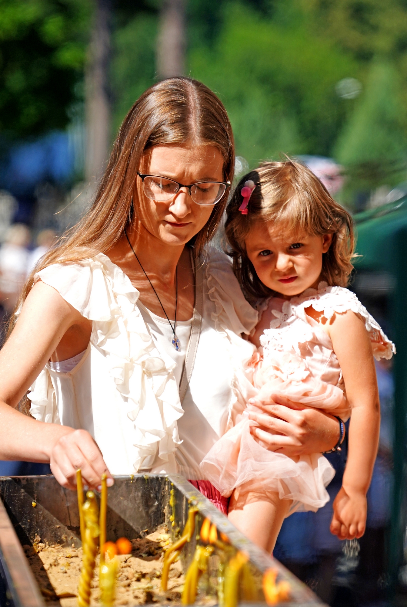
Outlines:
{"type": "Polygon", "coordinates": [[[28,418],[15,408],[67,332],[81,341],[84,321],[88,322],[58,291],[38,282],[0,351],[0,459],[49,461],[58,482],[70,489],[75,488],[79,467],[92,487],[99,485],[106,470],[93,438],[85,430],[28,418]]]}

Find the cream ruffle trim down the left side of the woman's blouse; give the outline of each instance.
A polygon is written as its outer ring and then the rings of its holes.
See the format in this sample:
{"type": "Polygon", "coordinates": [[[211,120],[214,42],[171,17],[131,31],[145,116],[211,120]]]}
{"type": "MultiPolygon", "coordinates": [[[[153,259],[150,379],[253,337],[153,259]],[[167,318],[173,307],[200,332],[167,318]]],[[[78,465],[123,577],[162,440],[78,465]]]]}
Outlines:
{"type": "MultiPolygon", "coordinates": [[[[134,423],[136,472],[173,461],[170,454],[182,442],[177,419],[184,415],[173,374],[175,364],[157,351],[136,305],[139,293],[128,277],[99,253],[80,263],[48,266],[35,275],[39,279],[93,321],[91,345],[104,351],[116,390],[130,405],[127,416],[134,423]]],[[[28,396],[36,419],[56,421],[51,385],[45,368],[28,396]]]]}

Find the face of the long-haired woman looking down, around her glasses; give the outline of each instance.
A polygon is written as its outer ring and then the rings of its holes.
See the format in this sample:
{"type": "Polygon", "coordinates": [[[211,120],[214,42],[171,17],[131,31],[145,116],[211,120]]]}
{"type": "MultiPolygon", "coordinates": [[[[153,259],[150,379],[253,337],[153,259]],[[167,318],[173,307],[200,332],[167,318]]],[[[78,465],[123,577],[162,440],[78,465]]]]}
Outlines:
{"type": "MultiPolygon", "coordinates": [[[[156,146],[145,155],[140,172],[185,185],[223,181],[223,157],[217,148],[208,145],[156,146]]],[[[145,196],[138,176],[136,190],[141,202],[136,205],[137,217],[150,234],[170,246],[185,245],[204,227],[214,209],[213,205],[197,205],[185,188],[166,202],[151,200],[145,196]]]]}

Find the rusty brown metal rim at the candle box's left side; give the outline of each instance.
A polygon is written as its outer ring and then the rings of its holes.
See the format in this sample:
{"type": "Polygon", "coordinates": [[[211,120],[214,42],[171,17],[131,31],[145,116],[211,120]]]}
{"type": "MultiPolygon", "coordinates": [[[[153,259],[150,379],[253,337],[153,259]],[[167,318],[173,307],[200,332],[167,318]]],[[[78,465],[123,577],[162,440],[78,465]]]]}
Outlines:
{"type": "Polygon", "coordinates": [[[33,572],[0,498],[0,557],[15,607],[45,607],[33,572]]]}

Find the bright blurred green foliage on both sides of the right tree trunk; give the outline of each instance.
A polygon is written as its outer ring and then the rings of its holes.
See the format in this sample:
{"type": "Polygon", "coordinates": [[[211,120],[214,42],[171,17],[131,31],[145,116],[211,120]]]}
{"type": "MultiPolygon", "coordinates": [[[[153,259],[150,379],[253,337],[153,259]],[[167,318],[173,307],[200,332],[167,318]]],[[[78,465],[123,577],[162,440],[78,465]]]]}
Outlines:
{"type": "MultiPolygon", "coordinates": [[[[139,13],[115,33],[116,128],[155,81],[156,24],[139,13]]],[[[354,188],[405,178],[404,0],[190,0],[186,71],[222,99],[250,166],[317,154],[337,158],[354,188]],[[335,90],[349,77],[363,85],[354,100],[335,90]]]]}

